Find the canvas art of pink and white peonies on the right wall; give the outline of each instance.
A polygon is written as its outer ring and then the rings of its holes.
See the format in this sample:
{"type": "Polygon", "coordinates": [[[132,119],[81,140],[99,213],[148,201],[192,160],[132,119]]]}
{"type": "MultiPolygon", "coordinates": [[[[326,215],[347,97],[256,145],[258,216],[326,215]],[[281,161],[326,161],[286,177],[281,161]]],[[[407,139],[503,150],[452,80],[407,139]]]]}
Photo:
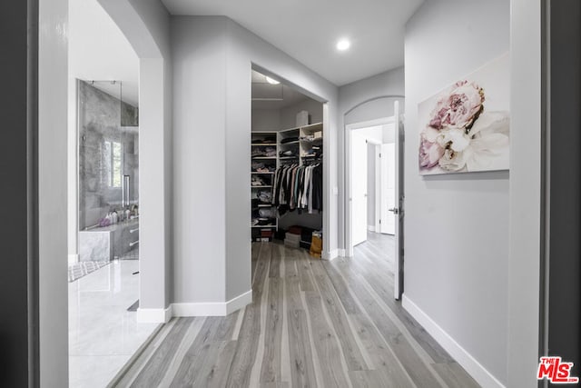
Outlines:
{"type": "Polygon", "coordinates": [[[419,104],[419,173],[508,169],[508,55],[419,104]]]}

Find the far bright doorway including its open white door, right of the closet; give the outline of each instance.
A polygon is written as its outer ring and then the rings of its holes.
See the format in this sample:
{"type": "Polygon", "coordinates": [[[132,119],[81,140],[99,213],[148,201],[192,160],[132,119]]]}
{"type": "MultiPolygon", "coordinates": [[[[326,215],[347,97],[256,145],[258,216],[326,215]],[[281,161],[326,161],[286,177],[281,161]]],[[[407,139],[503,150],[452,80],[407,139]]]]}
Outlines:
{"type": "Polygon", "coordinates": [[[346,248],[350,257],[384,258],[394,275],[394,296],[403,293],[403,128],[399,101],[394,115],[348,124],[346,144],[346,248]]]}

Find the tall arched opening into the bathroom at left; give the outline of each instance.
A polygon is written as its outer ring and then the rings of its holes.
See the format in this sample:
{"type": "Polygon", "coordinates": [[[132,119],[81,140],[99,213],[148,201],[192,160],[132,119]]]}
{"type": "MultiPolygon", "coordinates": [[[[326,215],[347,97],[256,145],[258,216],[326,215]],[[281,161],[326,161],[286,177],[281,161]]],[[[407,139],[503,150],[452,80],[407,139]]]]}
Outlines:
{"type": "Polygon", "coordinates": [[[107,385],[138,323],[139,59],[97,0],[69,2],[69,385],[107,385]]]}

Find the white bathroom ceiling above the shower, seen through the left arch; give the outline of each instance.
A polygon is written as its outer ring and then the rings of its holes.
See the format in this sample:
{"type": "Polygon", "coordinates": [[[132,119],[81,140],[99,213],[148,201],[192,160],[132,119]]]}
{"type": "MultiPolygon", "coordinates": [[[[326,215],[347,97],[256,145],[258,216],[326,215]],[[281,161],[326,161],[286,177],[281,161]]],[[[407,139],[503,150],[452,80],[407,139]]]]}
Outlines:
{"type": "MultiPolygon", "coordinates": [[[[69,75],[84,81],[121,81],[122,99],[137,106],[139,58],[96,0],[69,1],[69,75]]],[[[119,86],[96,83],[119,97],[119,86]]]]}

